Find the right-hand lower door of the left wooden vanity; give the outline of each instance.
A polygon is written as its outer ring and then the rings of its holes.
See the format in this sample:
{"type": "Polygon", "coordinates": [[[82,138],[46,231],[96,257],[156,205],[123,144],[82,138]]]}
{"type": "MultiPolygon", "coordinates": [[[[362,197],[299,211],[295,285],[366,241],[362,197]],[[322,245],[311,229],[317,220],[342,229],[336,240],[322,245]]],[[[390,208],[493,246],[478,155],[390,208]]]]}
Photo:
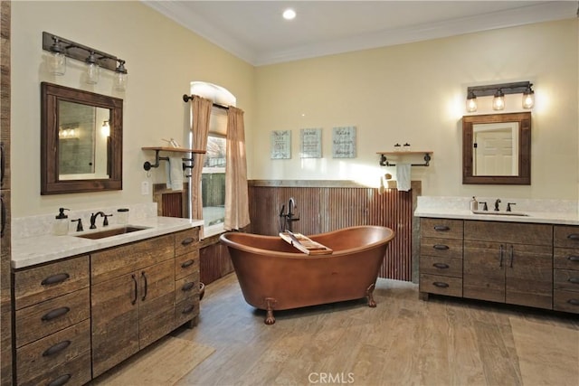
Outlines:
{"type": "Polygon", "coordinates": [[[138,271],[140,280],[139,347],[144,348],[173,330],[175,319],[175,261],[167,260],[138,271]]]}

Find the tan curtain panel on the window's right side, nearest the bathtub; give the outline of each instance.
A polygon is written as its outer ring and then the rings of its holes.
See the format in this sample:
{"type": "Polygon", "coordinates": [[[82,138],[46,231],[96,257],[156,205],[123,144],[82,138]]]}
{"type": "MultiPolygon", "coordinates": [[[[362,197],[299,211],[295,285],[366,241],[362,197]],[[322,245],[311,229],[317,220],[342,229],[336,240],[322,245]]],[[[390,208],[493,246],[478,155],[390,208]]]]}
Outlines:
{"type": "Polygon", "coordinates": [[[223,228],[240,230],[250,223],[250,208],[243,110],[233,106],[227,111],[226,157],[223,228]]]}

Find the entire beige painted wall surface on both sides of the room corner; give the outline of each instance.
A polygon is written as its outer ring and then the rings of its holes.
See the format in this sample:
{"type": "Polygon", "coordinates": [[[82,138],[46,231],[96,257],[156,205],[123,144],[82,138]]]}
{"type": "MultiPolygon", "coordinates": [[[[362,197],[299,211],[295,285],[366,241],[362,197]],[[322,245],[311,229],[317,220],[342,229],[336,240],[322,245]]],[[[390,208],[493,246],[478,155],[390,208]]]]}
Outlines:
{"type": "MultiPolygon", "coordinates": [[[[433,151],[430,167],[413,168],[428,195],[490,195],[577,199],[577,20],[533,24],[364,52],[253,68],[139,2],[13,2],[12,134],[14,217],[100,205],[150,202],[140,183],[152,154],[141,146],[160,138],[185,143],[191,80],[229,89],[244,109],[250,179],[352,179],[378,184],[394,170],[378,166],[377,151],[396,142],[433,151]],[[128,89],[110,79],[81,82],[81,63],[55,79],[43,66],[43,31],[127,61],[128,89]],[[512,80],[536,84],[531,186],[461,184],[460,117],[466,87],[512,80]],[[123,190],[40,195],[41,81],[125,99],[123,190]],[[357,157],[331,157],[331,129],[357,127],[357,157]],[[299,128],[323,128],[323,158],[299,158],[299,128]],[[271,130],[292,131],[292,158],[270,159],[271,130]]],[[[105,71],[106,72],[106,71],[105,71]]],[[[514,101],[513,103],[518,103],[514,101]]],[[[485,111],[479,108],[479,113],[485,111]]],[[[417,161],[420,161],[420,157],[417,161]]]]}

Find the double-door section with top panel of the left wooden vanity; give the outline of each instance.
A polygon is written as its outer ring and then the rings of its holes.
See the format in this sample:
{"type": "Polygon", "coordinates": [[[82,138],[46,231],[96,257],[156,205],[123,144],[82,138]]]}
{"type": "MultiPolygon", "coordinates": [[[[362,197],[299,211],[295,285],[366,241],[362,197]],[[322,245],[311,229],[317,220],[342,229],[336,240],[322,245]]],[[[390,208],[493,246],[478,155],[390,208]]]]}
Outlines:
{"type": "Polygon", "coordinates": [[[94,377],[174,329],[174,258],[174,234],[90,255],[94,377]]]}

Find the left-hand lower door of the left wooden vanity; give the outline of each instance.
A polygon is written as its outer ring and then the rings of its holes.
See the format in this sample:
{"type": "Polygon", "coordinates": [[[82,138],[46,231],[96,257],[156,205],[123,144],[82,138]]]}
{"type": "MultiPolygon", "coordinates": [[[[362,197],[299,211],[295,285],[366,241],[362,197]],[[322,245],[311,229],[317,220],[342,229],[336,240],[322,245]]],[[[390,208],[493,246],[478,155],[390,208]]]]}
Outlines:
{"type": "Polygon", "coordinates": [[[138,273],[92,286],[92,373],[138,352],[138,273]]]}

